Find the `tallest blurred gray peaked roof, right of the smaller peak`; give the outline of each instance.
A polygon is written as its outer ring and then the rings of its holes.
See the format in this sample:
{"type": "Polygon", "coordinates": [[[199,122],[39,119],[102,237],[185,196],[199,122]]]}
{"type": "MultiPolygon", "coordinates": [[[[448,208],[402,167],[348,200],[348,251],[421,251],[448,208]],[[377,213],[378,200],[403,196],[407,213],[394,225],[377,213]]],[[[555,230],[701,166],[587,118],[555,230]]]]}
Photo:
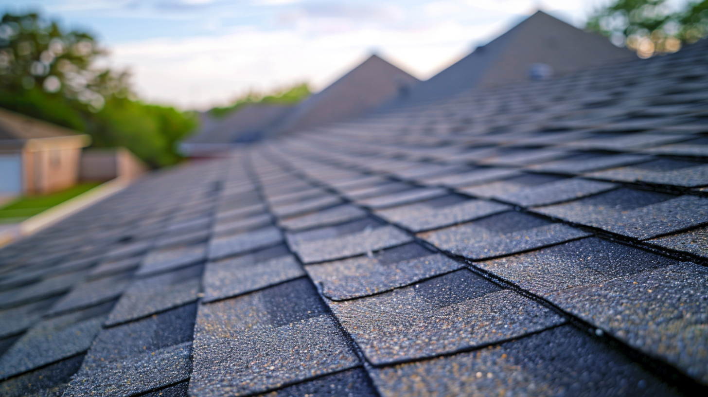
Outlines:
{"type": "Polygon", "coordinates": [[[530,68],[534,65],[548,65],[552,73],[566,74],[633,57],[636,57],[634,52],[615,47],[607,38],[584,32],[537,11],[495,40],[477,47],[462,60],[418,84],[407,98],[393,101],[388,106],[433,101],[472,88],[525,82],[529,80],[530,68]]]}

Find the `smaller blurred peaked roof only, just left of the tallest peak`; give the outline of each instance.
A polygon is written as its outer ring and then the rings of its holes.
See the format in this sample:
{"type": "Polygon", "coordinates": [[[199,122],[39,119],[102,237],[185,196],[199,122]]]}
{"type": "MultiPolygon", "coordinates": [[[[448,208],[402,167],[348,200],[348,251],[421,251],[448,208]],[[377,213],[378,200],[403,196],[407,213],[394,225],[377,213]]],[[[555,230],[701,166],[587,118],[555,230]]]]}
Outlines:
{"type": "Polygon", "coordinates": [[[371,55],[326,89],[299,104],[279,131],[312,128],[360,116],[405,94],[418,79],[378,55],[371,55]]]}

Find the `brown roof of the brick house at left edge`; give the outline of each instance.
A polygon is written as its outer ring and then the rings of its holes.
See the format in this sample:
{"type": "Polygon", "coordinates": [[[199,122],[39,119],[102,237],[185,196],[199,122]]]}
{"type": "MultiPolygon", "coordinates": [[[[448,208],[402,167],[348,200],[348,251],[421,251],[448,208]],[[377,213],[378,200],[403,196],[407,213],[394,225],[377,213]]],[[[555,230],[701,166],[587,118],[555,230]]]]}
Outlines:
{"type": "Polygon", "coordinates": [[[0,108],[0,146],[21,147],[28,140],[45,140],[47,138],[86,141],[86,145],[88,145],[89,137],[56,124],[0,108]]]}

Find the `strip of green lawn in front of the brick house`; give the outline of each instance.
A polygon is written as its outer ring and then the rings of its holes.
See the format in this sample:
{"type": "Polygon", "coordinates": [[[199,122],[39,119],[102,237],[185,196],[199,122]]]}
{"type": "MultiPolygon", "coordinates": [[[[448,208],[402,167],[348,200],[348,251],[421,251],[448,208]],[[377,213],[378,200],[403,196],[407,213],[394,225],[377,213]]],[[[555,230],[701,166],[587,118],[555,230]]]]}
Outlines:
{"type": "Polygon", "coordinates": [[[79,196],[79,194],[85,193],[100,184],[101,182],[90,182],[78,184],[70,189],[45,194],[43,196],[22,196],[0,207],[0,223],[22,222],[27,218],[31,218],[42,211],[69,200],[69,198],[79,196]]]}

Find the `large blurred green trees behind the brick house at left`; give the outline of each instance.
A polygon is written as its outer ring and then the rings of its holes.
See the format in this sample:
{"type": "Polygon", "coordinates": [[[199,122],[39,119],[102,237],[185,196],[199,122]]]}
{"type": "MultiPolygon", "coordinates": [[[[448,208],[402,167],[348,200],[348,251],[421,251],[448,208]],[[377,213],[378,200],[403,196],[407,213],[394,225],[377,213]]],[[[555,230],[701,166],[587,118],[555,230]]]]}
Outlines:
{"type": "Polygon", "coordinates": [[[94,146],[125,146],[152,167],[178,162],[176,142],[196,128],[195,114],[138,101],[127,72],[98,67],[105,55],[89,33],[6,13],[0,106],[88,133],[94,146]]]}

